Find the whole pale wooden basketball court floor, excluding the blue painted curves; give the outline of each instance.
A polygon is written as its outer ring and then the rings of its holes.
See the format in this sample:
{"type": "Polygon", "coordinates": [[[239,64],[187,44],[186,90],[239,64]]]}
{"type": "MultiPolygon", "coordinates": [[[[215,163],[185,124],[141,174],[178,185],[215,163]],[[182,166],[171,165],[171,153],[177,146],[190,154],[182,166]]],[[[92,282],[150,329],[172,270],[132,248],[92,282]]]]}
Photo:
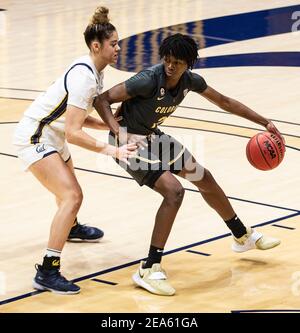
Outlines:
{"type": "MultiPolygon", "coordinates": [[[[274,120],[286,139],[286,155],[272,171],[256,170],[246,159],[249,138],[263,129],[218,109],[196,94],[189,94],[162,127],[183,141],[212,172],[245,224],[280,238],[280,246],[270,251],[233,253],[225,224],[190,183],[182,182],[185,198],[163,258],[163,267],[176,294],[149,294],[133,285],[131,275],[147,255],[161,198],[147,188],[140,188],[105,156],[70,146],[84,193],[79,219],[102,228],[105,236],[99,243],[65,246],[62,271],[80,285],[80,294],[61,296],[32,289],[34,264],[40,262],[45,251],[55,202],[30,173],[21,170],[11,144],[12,135],[32,99],[73,58],[87,52],[82,31],[98,4],[75,0],[71,6],[70,1],[54,0],[19,5],[4,0],[0,5],[6,9],[0,11],[0,313],[300,312],[297,66],[195,70],[215,89],[274,120]],[[51,25],[47,24],[49,20],[51,25]],[[72,40],[66,32],[60,33],[65,22],[66,30],[74,33],[72,40]],[[12,42],[16,35],[22,37],[22,52],[12,42]],[[34,47],[30,48],[30,43],[35,43],[34,47]]],[[[129,14],[127,18],[118,15],[119,1],[101,4],[110,8],[123,39],[162,26],[292,6],[297,1],[272,0],[266,4],[241,0],[239,8],[235,1],[228,1],[224,7],[221,0],[216,0],[214,6],[205,0],[172,1],[172,6],[169,1],[122,1],[122,10],[132,14],[130,24],[129,14]]],[[[297,36],[284,33],[207,47],[200,50],[200,55],[250,50],[299,52],[297,36]]],[[[105,89],[132,74],[107,68],[105,89]]],[[[107,140],[106,131],[87,131],[107,140]]]]}

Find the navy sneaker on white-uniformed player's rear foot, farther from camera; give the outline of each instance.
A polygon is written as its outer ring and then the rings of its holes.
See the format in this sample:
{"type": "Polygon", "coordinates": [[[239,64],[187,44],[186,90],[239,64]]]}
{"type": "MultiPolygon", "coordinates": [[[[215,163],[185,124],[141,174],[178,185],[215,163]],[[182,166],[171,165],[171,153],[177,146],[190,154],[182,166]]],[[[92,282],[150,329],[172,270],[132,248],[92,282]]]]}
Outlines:
{"type": "Polygon", "coordinates": [[[98,242],[104,236],[104,232],[95,227],[77,223],[70,231],[68,241],[71,242],[98,242]]]}

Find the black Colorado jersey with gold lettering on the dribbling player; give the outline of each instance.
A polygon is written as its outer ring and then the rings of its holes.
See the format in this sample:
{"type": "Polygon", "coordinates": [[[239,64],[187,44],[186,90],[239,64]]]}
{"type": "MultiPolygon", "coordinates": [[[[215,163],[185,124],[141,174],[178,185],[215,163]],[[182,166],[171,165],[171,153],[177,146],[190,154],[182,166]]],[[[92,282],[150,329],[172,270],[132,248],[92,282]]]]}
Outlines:
{"type": "Polygon", "coordinates": [[[149,135],[167,119],[189,91],[202,93],[207,84],[202,76],[186,70],[177,86],[166,89],[163,64],[142,70],[125,81],[127,93],[132,97],[122,103],[121,126],[129,133],[149,135]]]}

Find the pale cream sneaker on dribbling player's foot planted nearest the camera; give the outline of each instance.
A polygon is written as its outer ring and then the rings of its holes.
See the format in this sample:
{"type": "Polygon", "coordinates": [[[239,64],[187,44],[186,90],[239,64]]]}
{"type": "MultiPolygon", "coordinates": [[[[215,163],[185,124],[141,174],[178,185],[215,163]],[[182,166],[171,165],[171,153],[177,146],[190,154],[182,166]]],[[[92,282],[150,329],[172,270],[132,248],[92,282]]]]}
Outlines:
{"type": "Polygon", "coordinates": [[[160,264],[153,264],[151,268],[143,268],[143,264],[142,261],[137,272],[132,275],[135,284],[157,295],[172,296],[175,294],[175,289],[169,284],[166,272],[160,264]]]}

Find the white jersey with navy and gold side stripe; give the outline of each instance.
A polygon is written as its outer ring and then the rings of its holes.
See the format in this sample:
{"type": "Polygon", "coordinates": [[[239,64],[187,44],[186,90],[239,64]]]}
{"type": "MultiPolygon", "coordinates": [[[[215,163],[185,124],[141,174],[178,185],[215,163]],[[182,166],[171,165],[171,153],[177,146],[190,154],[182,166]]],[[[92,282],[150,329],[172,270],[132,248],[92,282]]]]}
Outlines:
{"type": "Polygon", "coordinates": [[[14,135],[14,144],[48,142],[62,147],[65,141],[67,104],[93,109],[94,98],[102,92],[103,72],[98,72],[90,56],[76,59],[46,92],[39,95],[25,111],[14,135]]]}

